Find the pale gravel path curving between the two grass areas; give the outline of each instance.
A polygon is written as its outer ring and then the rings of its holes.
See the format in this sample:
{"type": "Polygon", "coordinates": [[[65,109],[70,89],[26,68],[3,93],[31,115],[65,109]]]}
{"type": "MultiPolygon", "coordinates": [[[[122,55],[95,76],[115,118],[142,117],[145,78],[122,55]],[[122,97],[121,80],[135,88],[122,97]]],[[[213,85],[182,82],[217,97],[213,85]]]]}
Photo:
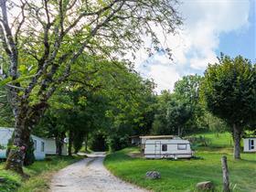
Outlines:
{"type": "Polygon", "coordinates": [[[103,153],[95,153],[73,165],[61,169],[51,181],[51,192],[145,192],[123,182],[104,167],[103,153]]]}

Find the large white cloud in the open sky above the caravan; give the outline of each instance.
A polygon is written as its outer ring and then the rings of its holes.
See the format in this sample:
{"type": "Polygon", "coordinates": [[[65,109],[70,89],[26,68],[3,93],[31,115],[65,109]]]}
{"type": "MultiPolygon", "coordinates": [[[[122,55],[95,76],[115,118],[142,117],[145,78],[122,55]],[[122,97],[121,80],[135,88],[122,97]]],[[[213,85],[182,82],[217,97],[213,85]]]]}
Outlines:
{"type": "Polygon", "coordinates": [[[219,34],[248,27],[249,11],[249,0],[184,0],[180,12],[185,23],[179,35],[169,35],[165,42],[159,28],[155,28],[161,41],[172,48],[175,64],[163,54],[156,54],[145,63],[147,55],[140,50],[135,60],[136,69],[155,80],[158,92],[172,90],[181,76],[193,69],[203,71],[208,63],[217,62],[219,34]]]}

